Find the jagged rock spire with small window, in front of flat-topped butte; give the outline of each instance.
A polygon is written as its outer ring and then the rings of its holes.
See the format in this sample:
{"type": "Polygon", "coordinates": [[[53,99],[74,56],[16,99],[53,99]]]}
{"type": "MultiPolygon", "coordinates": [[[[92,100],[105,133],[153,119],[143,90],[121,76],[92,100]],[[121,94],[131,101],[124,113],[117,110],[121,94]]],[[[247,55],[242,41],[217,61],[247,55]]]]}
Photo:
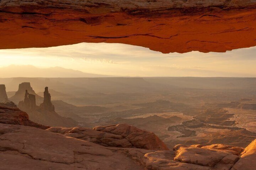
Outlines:
{"type": "Polygon", "coordinates": [[[29,94],[26,90],[24,100],[19,102],[18,107],[21,110],[35,110],[37,108],[36,96],[29,94]]]}

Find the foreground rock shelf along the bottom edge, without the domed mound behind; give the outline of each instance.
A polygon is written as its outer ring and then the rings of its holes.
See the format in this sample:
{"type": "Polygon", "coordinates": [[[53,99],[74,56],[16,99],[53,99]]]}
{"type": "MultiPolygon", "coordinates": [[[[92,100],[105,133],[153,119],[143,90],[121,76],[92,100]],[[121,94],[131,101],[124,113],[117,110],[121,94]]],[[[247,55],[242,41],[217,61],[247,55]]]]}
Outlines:
{"type": "Polygon", "coordinates": [[[254,170],[256,166],[255,141],[244,150],[221,144],[145,150],[104,147],[24,125],[0,123],[0,132],[1,170],[254,170]]]}

